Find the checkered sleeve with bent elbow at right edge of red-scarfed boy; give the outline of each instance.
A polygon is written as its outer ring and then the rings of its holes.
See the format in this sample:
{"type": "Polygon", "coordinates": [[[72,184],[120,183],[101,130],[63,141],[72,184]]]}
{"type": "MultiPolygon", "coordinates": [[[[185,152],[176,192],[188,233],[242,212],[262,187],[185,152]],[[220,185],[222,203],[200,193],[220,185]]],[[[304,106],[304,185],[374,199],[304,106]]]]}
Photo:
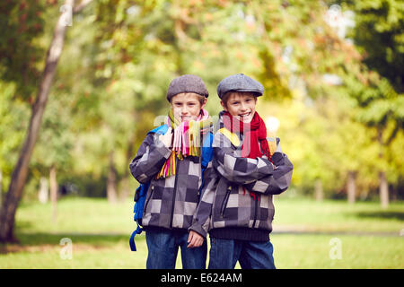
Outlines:
{"type": "Polygon", "coordinates": [[[283,152],[275,152],[272,156],[276,168],[271,175],[244,185],[248,190],[265,195],[279,195],[289,187],[294,165],[283,152]]]}

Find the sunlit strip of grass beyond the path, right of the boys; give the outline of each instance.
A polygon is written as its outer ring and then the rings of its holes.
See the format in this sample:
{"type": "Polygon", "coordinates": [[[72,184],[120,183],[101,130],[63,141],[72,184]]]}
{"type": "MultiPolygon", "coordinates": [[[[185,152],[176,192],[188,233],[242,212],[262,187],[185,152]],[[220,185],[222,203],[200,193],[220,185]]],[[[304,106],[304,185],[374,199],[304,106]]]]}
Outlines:
{"type": "Polygon", "coordinates": [[[326,200],[316,202],[302,198],[276,197],[274,225],[297,230],[328,232],[386,232],[400,235],[404,229],[404,204],[392,203],[382,209],[377,202],[326,200]]]}

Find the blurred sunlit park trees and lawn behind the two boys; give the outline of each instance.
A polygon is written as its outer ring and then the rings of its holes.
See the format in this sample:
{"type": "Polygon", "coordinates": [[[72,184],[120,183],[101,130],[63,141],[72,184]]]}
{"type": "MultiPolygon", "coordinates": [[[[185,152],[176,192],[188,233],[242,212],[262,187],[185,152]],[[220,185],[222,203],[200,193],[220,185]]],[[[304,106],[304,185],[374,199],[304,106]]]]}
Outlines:
{"type": "MultiPolygon", "coordinates": [[[[2,0],[0,239],[20,245],[3,244],[0,265],[4,257],[4,267],[24,267],[6,254],[90,232],[93,217],[105,215],[94,234],[128,239],[138,185],[128,164],[167,114],[165,93],[180,74],[204,80],[210,115],[221,110],[215,89],[224,77],[263,83],[259,114],[277,117],[294,163],[292,185],[276,199],[279,234],[335,231],[327,214],[338,206],[336,230],[369,231],[371,220],[371,231],[402,235],[403,22],[399,0],[2,0]],[[299,223],[298,211],[318,216],[299,223]],[[89,225],[76,230],[75,215],[89,225]],[[391,229],[380,230],[383,221],[391,229]]],[[[95,238],[81,240],[101,244],[95,238]]],[[[382,267],[403,267],[398,240],[397,261],[382,267]]],[[[283,259],[281,267],[302,266],[283,259]]],[[[115,266],[128,266],[122,260],[115,266]]],[[[316,260],[303,266],[321,267],[316,260]]]]}

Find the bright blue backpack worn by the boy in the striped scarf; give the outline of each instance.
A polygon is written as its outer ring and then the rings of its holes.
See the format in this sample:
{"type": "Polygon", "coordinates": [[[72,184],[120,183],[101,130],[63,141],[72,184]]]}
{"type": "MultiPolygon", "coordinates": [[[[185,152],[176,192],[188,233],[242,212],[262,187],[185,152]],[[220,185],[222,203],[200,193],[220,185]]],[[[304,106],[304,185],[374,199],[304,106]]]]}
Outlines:
{"type": "MultiPolygon", "coordinates": [[[[164,135],[168,130],[167,125],[159,126],[151,130],[148,134],[159,134],[159,135],[164,135]]],[[[205,142],[203,143],[202,146],[202,159],[201,159],[201,169],[202,169],[202,185],[200,189],[204,186],[204,172],[206,170],[207,164],[209,161],[212,160],[212,155],[213,155],[213,149],[212,149],[212,142],[213,142],[213,134],[208,133],[205,139],[205,142]]],[[[132,235],[129,239],[129,245],[130,245],[130,250],[136,251],[136,245],[135,245],[135,236],[136,234],[140,234],[143,231],[142,228],[142,218],[143,218],[143,212],[145,209],[145,199],[147,195],[147,190],[149,189],[150,186],[150,181],[140,184],[139,187],[136,188],[135,192],[135,206],[133,209],[133,212],[135,213],[133,219],[137,224],[137,228],[135,231],[132,232],[132,235]]],[[[199,190],[200,190],[199,189],[199,190]]]]}

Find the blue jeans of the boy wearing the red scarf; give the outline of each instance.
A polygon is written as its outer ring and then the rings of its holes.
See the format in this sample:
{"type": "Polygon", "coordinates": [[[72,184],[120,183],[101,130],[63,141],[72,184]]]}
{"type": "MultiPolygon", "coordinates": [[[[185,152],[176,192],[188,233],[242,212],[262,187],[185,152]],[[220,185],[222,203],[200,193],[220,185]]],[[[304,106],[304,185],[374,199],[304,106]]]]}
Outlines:
{"type": "Polygon", "coordinates": [[[271,242],[210,238],[209,269],[275,269],[271,242]]]}

